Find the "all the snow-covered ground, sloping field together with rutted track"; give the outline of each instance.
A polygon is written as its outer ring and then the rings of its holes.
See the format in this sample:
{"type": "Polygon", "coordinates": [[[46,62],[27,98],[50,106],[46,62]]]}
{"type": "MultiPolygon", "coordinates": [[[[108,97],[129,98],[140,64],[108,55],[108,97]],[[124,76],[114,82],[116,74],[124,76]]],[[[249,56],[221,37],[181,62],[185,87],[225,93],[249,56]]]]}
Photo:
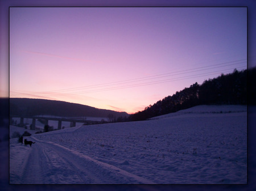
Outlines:
{"type": "Polygon", "coordinates": [[[77,126],[27,139],[36,143],[26,147],[10,139],[10,184],[247,183],[243,105],[201,105],[147,121],[77,126]]]}

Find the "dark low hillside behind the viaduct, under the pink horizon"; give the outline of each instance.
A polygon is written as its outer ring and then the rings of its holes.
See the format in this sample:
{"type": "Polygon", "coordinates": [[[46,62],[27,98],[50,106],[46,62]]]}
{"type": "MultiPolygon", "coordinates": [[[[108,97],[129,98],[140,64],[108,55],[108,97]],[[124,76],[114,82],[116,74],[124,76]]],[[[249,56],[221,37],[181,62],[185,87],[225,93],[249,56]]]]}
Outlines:
{"type": "Polygon", "coordinates": [[[97,109],[88,105],[44,99],[10,98],[10,115],[36,116],[53,115],[61,117],[110,117],[126,118],[126,112],[97,109]]]}

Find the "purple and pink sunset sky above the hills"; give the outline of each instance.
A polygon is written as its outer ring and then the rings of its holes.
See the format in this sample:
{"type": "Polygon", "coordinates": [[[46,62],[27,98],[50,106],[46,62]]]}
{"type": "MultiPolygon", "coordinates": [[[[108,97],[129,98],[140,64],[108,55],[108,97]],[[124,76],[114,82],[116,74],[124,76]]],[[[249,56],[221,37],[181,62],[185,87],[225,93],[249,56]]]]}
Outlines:
{"type": "Polygon", "coordinates": [[[134,113],[246,58],[246,7],[10,8],[10,97],[134,113]]]}

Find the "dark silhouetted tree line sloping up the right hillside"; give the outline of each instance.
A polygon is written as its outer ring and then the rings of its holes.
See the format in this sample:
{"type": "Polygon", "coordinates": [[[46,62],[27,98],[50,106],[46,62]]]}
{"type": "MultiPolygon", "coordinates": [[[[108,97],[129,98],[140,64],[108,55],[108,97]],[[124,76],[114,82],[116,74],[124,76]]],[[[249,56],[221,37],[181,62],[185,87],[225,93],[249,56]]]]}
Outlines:
{"type": "MultiPolygon", "coordinates": [[[[255,76],[256,69],[250,70],[251,80],[255,76]]],[[[205,80],[201,85],[196,82],[189,88],[149,105],[144,111],[131,114],[129,119],[146,120],[202,104],[247,104],[247,70],[235,69],[231,74],[222,74],[220,77],[205,80]]]]}

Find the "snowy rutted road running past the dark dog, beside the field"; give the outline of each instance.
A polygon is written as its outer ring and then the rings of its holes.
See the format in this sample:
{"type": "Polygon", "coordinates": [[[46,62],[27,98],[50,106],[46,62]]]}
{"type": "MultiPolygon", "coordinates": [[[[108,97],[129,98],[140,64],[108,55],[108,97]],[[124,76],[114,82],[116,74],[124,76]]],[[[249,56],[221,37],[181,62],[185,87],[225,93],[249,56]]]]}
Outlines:
{"type": "Polygon", "coordinates": [[[26,147],[20,173],[10,172],[11,184],[154,184],[56,143],[29,140],[36,143],[26,147]]]}

